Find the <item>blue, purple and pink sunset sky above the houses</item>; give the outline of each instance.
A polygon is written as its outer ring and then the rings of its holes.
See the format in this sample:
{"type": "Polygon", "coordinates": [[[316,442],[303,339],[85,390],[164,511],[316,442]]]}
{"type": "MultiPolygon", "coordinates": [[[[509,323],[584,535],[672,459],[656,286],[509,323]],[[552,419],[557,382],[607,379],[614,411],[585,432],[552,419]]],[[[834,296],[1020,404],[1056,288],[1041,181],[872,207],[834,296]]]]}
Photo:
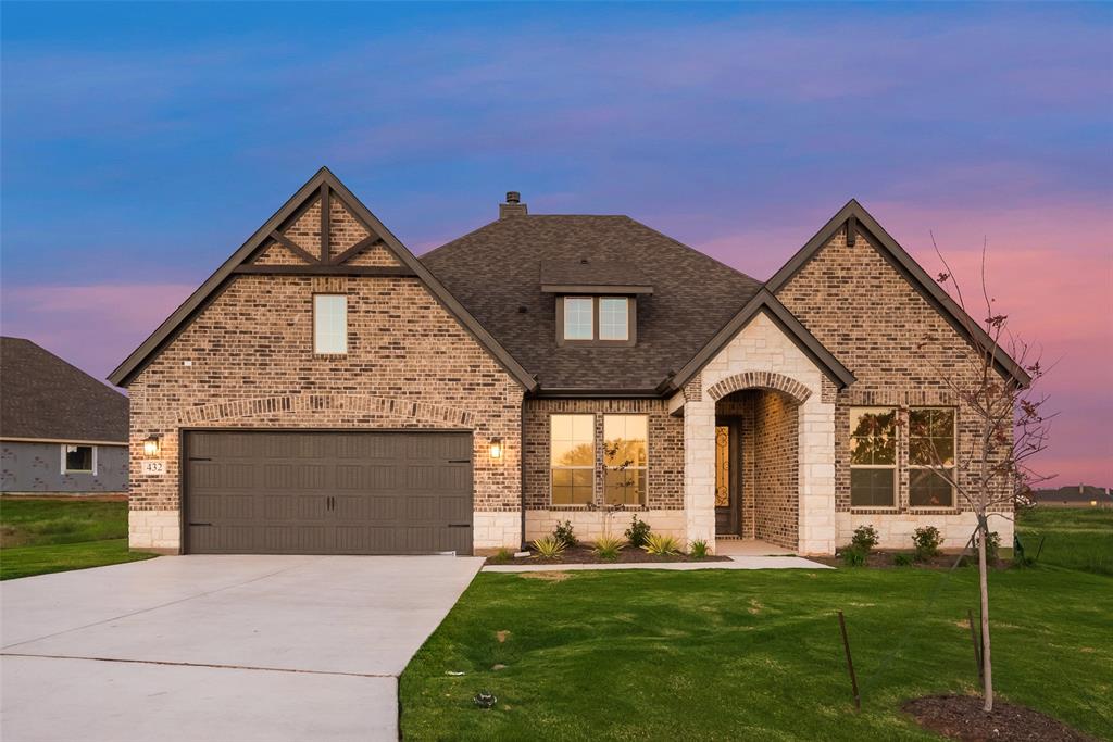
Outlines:
{"type": "Polygon", "coordinates": [[[0,327],[104,378],[318,167],[417,254],[628,214],[766,279],[855,197],[1054,363],[1113,486],[1113,4],[2,12],[0,327]]]}

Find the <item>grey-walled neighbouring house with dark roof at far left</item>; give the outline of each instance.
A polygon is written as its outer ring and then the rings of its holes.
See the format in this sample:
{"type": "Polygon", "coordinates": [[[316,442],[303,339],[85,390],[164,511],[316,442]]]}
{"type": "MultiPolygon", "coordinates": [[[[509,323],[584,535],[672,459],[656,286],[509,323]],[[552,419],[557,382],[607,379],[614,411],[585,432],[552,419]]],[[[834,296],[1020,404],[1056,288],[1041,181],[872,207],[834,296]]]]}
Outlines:
{"type": "Polygon", "coordinates": [[[0,492],[128,491],[128,398],[18,337],[0,338],[0,492]]]}

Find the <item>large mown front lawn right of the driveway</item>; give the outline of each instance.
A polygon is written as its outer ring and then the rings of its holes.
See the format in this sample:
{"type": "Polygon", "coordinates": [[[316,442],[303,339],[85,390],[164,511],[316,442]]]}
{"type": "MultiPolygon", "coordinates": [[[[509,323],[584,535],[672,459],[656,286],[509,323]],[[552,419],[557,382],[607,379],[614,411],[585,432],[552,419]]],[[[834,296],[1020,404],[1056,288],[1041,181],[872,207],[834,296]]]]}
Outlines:
{"type": "MultiPolygon", "coordinates": [[[[1113,739],[1113,581],[1041,562],[991,576],[998,693],[1113,739]]],[[[976,605],[972,567],[481,574],[402,675],[402,730],[407,740],[937,739],[899,705],[975,692],[966,611],[976,605]],[[475,708],[480,690],[495,709],[475,708]]]]}

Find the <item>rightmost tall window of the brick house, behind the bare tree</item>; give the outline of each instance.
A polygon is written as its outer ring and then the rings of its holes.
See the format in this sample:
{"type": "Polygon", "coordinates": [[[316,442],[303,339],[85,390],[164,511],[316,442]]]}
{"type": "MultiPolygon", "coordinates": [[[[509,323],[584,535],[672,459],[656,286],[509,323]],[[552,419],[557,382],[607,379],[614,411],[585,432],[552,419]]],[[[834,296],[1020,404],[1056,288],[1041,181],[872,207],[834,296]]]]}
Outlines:
{"type": "Polygon", "coordinates": [[[955,410],[946,407],[908,410],[908,505],[953,507],[954,476],[955,410]]]}

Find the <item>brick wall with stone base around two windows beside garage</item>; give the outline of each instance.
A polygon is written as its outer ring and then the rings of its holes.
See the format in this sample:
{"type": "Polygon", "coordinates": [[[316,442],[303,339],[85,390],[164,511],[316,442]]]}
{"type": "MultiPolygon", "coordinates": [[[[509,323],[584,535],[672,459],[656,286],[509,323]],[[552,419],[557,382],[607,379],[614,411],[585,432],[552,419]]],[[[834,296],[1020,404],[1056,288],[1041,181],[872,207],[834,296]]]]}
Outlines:
{"type": "Polygon", "coordinates": [[[634,513],[653,531],[684,535],[683,421],[669,415],[664,399],[528,399],[525,402],[525,531],[533,540],[571,521],[577,534],[591,540],[603,533],[621,535],[634,513]],[[554,414],[592,414],[595,418],[594,505],[603,505],[603,416],[649,416],[647,504],[626,506],[608,515],[585,505],[550,502],[549,418],[554,414]]]}

